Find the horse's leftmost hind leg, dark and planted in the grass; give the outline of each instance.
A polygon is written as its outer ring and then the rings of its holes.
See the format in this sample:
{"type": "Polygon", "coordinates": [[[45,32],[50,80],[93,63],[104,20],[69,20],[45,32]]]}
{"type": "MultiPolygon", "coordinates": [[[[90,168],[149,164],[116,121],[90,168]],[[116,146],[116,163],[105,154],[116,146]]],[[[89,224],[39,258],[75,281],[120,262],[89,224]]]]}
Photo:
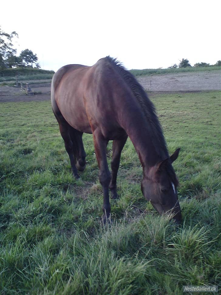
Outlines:
{"type": "Polygon", "coordinates": [[[59,123],[60,133],[64,140],[64,145],[66,151],[70,158],[71,169],[75,178],[79,178],[80,176],[77,173],[77,168],[75,166],[74,157],[73,157],[73,142],[70,138],[70,127],[66,123],[59,123]]]}

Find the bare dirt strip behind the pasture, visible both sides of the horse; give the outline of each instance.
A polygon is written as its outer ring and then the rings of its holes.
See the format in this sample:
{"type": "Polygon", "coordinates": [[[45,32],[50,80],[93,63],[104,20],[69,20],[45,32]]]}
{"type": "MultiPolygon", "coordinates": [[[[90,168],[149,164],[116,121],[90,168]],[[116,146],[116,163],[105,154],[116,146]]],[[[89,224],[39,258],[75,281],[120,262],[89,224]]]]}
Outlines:
{"type": "MultiPolygon", "coordinates": [[[[221,90],[221,71],[169,73],[140,76],[138,81],[149,92],[189,92],[221,90]]],[[[30,83],[34,95],[26,95],[20,88],[0,85],[0,102],[50,99],[50,83],[30,83]]],[[[151,95],[150,95],[151,96],[151,95]]]]}

